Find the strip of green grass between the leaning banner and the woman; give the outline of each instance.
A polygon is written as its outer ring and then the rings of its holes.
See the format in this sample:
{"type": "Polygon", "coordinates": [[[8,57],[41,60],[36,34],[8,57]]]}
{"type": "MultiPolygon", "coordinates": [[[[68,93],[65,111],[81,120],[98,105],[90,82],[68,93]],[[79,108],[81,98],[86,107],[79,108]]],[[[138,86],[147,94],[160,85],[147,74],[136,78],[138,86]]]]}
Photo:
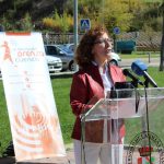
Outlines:
{"type": "Polygon", "coordinates": [[[65,143],[71,142],[70,136],[74,122],[69,98],[71,82],[71,78],[51,80],[65,143]]]}

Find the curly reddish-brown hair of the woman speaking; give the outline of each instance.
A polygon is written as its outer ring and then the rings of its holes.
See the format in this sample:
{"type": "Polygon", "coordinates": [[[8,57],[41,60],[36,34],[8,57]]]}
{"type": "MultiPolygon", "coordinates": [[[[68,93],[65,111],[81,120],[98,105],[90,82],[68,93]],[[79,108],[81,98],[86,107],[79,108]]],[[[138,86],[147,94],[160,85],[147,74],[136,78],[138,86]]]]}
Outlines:
{"type": "Polygon", "coordinates": [[[104,26],[96,26],[87,31],[81,38],[79,46],[75,51],[75,61],[80,68],[85,67],[86,65],[93,61],[94,57],[92,49],[97,37],[102,36],[104,33],[107,33],[107,30],[104,26]]]}

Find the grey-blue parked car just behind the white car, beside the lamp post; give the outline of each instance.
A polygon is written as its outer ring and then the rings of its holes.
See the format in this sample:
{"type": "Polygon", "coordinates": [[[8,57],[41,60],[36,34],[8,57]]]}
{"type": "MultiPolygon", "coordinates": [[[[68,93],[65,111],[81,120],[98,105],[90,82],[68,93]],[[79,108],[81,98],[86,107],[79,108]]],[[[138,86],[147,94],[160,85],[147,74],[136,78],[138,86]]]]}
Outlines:
{"type": "Polygon", "coordinates": [[[62,71],[63,70],[75,70],[75,65],[73,60],[73,52],[61,45],[45,45],[46,55],[58,57],[62,61],[62,71]]]}

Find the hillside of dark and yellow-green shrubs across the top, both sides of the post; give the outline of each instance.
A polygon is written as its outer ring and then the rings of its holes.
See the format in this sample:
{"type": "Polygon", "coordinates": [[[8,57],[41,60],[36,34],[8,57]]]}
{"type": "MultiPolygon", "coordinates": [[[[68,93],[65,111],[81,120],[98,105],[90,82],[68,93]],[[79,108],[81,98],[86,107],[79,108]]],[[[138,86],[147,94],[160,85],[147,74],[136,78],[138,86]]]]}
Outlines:
{"type": "MultiPolygon", "coordinates": [[[[162,0],[79,0],[79,20],[109,32],[162,30],[162,0]]],[[[73,0],[1,0],[0,23],[5,31],[73,32],[73,0]]]]}

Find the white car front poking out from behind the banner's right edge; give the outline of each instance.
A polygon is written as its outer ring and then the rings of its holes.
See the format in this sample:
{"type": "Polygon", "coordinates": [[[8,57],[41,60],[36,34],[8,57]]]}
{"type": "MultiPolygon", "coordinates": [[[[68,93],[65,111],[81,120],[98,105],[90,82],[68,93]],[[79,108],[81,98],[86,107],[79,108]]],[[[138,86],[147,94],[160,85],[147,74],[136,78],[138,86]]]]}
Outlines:
{"type": "Polygon", "coordinates": [[[49,73],[60,72],[62,70],[62,61],[60,58],[46,55],[46,60],[47,60],[49,73]]]}

